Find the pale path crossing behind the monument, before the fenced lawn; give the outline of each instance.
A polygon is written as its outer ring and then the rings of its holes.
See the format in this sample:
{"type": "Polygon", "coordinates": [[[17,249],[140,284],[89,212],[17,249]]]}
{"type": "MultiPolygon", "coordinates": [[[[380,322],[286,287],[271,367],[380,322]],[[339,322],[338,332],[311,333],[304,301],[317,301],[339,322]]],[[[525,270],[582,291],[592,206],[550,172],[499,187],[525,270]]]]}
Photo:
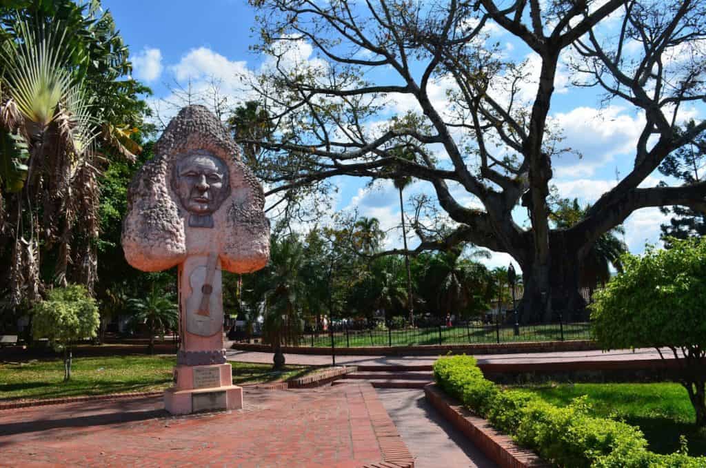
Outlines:
{"type": "MultiPolygon", "coordinates": [[[[478,363],[548,363],[578,361],[636,361],[659,359],[654,348],[642,348],[631,351],[561,351],[555,353],[517,353],[517,354],[477,354],[478,363]]],[[[664,353],[665,358],[671,357],[664,353]]],[[[229,361],[246,363],[272,363],[273,353],[258,351],[227,350],[229,361]]],[[[336,356],[336,365],[431,365],[438,356],[336,356]]],[[[331,356],[311,354],[285,354],[288,364],[330,365],[331,356]]]]}

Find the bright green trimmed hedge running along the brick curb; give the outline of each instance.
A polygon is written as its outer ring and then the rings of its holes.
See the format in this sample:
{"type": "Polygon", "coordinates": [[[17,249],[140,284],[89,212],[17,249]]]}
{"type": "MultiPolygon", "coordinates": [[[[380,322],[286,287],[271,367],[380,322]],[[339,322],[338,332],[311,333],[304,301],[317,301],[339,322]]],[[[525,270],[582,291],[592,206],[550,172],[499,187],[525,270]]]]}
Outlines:
{"type": "Polygon", "coordinates": [[[438,359],[434,379],[469,411],[561,467],[706,467],[706,457],[650,452],[639,428],[590,416],[585,397],[562,408],[530,392],[503,390],[484,378],[472,356],[438,359]]]}

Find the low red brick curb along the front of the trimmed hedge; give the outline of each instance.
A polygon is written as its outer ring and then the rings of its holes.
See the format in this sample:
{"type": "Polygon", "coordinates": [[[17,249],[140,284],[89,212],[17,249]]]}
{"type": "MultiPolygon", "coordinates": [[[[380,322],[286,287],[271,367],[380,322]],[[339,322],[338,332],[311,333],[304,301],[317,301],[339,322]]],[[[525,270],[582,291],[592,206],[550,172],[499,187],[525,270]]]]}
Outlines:
{"type": "Polygon", "coordinates": [[[486,419],[472,416],[456,399],[445,394],[436,384],[424,387],[424,395],[431,405],[500,467],[544,468],[551,464],[532,450],[517,445],[508,435],[490,426],[486,419]]]}

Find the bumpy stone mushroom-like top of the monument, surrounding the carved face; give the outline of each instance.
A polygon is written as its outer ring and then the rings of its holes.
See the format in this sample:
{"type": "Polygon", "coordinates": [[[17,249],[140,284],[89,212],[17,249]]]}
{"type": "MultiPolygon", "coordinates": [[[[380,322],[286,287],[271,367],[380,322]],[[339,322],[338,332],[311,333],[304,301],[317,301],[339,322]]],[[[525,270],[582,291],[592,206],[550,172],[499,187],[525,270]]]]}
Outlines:
{"type": "Polygon", "coordinates": [[[237,145],[201,105],[184,107],[155,146],[155,158],[138,171],[128,189],[122,244],[128,262],[143,271],[181,264],[187,255],[217,252],[227,271],[249,273],[265,266],[270,226],[262,187],[242,163],[237,145]],[[174,191],[174,165],[208,154],[228,168],[230,193],[213,213],[213,228],[189,226],[189,212],[174,191]]]}

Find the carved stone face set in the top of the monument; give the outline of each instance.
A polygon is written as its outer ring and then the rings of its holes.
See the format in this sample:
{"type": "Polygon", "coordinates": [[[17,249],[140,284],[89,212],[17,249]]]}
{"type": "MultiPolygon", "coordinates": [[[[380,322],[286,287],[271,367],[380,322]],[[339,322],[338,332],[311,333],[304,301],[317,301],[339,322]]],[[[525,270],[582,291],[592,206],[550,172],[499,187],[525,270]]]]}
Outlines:
{"type": "Polygon", "coordinates": [[[228,197],[228,169],[209,154],[184,156],[174,168],[174,190],[181,206],[196,215],[209,215],[228,197]]]}

